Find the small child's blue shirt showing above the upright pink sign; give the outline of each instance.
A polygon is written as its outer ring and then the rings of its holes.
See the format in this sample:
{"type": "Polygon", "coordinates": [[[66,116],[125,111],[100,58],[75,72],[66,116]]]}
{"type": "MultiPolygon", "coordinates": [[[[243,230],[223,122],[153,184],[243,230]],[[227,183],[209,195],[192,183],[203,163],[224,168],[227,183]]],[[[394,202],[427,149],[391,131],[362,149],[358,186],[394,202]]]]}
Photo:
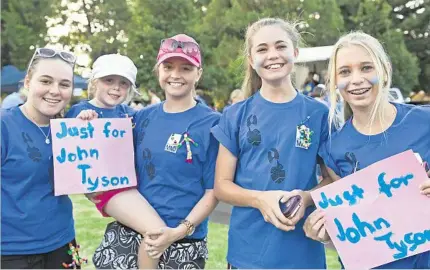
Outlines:
{"type": "Polygon", "coordinates": [[[119,104],[114,108],[99,108],[91,104],[88,100],[82,100],[78,104],[73,105],[66,113],[66,118],[75,118],[83,110],[94,110],[99,118],[127,118],[133,117],[136,111],[131,107],[119,104]]]}

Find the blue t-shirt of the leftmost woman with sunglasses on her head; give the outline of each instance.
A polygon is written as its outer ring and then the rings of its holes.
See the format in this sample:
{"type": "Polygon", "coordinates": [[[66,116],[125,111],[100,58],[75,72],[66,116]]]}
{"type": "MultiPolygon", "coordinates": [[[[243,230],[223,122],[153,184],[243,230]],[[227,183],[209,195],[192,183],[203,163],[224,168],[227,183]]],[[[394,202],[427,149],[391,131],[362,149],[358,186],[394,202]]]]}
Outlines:
{"type": "Polygon", "coordinates": [[[1,124],[1,253],[58,249],[75,230],[70,198],[54,196],[52,145],[19,107],[2,110],[1,124]]]}

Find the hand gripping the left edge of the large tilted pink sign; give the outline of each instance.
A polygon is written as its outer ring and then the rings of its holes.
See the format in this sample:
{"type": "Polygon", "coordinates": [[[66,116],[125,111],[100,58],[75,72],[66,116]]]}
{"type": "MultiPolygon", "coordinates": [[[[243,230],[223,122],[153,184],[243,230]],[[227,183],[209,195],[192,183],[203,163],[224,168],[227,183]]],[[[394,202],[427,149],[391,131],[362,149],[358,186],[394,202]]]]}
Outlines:
{"type": "Polygon", "coordinates": [[[324,243],[330,241],[330,236],[327,233],[324,223],[325,216],[322,210],[315,210],[312,212],[303,225],[306,236],[318,242],[324,243]]]}

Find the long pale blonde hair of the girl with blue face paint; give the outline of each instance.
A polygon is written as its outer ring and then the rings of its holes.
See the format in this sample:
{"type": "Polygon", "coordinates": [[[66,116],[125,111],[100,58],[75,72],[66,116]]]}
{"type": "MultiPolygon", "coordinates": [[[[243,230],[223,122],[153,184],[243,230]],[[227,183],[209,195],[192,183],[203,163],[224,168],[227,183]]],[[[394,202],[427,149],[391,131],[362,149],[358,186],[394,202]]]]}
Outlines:
{"type": "MultiPolygon", "coordinates": [[[[376,69],[376,74],[378,77],[378,94],[376,96],[376,101],[373,104],[372,114],[370,117],[370,124],[374,122],[376,119],[377,113],[379,113],[379,119],[383,120],[383,107],[386,102],[382,102],[384,100],[388,101],[389,89],[391,86],[391,77],[392,70],[390,59],[385,52],[382,44],[374,37],[363,33],[361,31],[351,32],[347,35],[341,37],[338,42],[334,45],[334,49],[332,55],[330,57],[329,66],[328,66],[328,81],[327,89],[329,91],[330,96],[330,113],[329,113],[329,131],[331,131],[332,125],[334,124],[336,127],[339,127],[339,123],[336,122],[336,103],[337,103],[337,95],[336,95],[336,60],[337,53],[341,48],[347,46],[360,46],[367,51],[370,55],[376,69]]],[[[344,119],[348,120],[353,115],[351,110],[351,106],[344,101],[344,119]]]]}

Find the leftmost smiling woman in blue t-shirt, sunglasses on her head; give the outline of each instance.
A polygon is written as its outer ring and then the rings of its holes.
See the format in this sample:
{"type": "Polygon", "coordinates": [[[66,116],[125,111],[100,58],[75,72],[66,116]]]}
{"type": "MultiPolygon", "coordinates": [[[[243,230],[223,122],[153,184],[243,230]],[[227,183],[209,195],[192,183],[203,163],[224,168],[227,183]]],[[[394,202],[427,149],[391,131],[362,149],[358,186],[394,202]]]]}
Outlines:
{"type": "Polygon", "coordinates": [[[54,196],[49,124],[72,97],[75,61],[70,52],[37,48],[24,79],[27,102],[1,112],[2,268],[59,269],[74,262],[68,254],[70,244],[77,246],[72,202],[54,196]]]}

